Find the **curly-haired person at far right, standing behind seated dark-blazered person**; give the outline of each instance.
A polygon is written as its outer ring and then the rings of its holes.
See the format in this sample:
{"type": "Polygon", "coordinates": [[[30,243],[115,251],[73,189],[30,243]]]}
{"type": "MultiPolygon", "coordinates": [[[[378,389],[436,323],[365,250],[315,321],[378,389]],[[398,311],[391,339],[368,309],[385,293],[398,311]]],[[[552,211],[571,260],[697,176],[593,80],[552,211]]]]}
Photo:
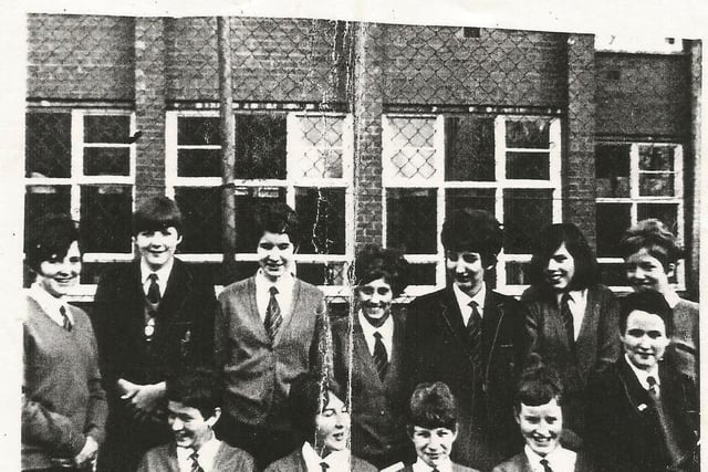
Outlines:
{"type": "Polygon", "coordinates": [[[681,258],[681,248],[674,233],[659,220],[642,220],[629,228],[620,241],[625,261],[625,275],[635,292],[657,292],[671,310],[674,326],[667,355],[681,374],[698,378],[699,323],[698,303],[676,293],[670,277],[681,258]]]}

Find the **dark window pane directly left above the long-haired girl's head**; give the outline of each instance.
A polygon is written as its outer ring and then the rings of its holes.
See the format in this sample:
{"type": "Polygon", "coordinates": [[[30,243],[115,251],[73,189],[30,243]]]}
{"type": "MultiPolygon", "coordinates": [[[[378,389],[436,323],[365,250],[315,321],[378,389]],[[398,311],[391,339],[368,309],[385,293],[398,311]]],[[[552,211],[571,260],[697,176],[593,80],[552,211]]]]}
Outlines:
{"type": "Polygon", "coordinates": [[[553,217],[551,190],[504,190],[504,252],[528,254],[553,217]]]}

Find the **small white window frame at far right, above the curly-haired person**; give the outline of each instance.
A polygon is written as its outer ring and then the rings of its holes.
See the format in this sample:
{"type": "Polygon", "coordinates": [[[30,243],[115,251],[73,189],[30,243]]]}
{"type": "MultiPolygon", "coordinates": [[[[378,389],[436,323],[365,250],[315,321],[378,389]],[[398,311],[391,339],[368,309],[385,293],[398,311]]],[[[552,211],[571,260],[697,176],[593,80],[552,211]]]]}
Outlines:
{"type": "MultiPolygon", "coordinates": [[[[667,203],[676,204],[676,239],[679,243],[685,241],[685,221],[684,221],[684,146],[678,143],[655,143],[655,141],[597,141],[596,146],[626,146],[629,145],[629,197],[598,197],[595,203],[623,203],[629,204],[629,224],[634,225],[638,222],[637,207],[641,203],[667,203]],[[674,196],[641,196],[639,195],[639,174],[650,174],[652,171],[639,171],[639,147],[674,147],[674,196]]],[[[669,171],[656,171],[656,174],[668,174],[669,171]]],[[[617,241],[618,242],[618,241],[617,241]]],[[[598,264],[622,265],[622,258],[597,258],[598,264]]],[[[686,290],[686,271],[684,260],[680,259],[676,264],[676,283],[673,285],[677,291],[686,290]]],[[[631,292],[629,285],[612,285],[615,292],[631,292]]]]}

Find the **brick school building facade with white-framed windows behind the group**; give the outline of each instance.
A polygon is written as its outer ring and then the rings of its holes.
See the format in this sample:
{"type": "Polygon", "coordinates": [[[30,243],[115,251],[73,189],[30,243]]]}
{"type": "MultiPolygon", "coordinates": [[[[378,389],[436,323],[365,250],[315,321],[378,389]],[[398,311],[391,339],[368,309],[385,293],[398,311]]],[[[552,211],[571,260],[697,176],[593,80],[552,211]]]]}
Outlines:
{"type": "Polygon", "coordinates": [[[239,17],[222,32],[225,72],[216,18],[27,20],[25,228],[46,211],[81,221],[76,301],[133,259],[131,213],[156,195],[185,213],[179,258],[214,266],[219,285],[254,271],[254,211],[281,200],[308,231],[299,276],[333,297],[366,243],[405,250],[409,295],[444,285],[445,214],[470,207],[504,224],[490,280],[502,292],[521,293],[535,233],[561,221],[621,291],[616,243],[654,217],[686,248],[674,282],[698,300],[699,41],[629,53],[592,34],[239,17]]]}

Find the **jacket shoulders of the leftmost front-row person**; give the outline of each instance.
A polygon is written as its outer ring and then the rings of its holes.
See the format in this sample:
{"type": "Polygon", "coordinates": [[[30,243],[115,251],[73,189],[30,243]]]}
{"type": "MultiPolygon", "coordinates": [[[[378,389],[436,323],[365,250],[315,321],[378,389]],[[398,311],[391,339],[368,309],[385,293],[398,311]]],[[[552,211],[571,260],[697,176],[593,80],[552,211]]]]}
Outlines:
{"type": "MultiPolygon", "coordinates": [[[[214,460],[214,472],[257,471],[253,458],[240,449],[222,442],[214,460]]],[[[150,449],[140,461],[137,472],[179,472],[175,444],[150,449]]]]}

